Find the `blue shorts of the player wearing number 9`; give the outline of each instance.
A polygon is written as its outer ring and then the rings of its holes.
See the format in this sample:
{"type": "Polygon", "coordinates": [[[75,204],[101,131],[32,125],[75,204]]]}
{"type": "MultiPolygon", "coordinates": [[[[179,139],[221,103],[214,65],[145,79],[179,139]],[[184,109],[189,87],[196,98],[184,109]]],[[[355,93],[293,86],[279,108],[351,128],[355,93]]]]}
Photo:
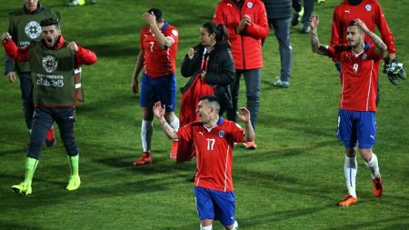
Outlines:
{"type": "Polygon", "coordinates": [[[345,148],[371,148],[376,140],[375,112],[338,111],[338,139],[345,148]]]}

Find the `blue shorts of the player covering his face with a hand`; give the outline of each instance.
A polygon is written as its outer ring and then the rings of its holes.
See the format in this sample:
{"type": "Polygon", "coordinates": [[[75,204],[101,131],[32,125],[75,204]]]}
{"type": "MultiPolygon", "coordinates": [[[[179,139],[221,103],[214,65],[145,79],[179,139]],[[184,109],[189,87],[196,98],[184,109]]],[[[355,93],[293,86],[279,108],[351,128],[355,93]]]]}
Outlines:
{"type": "Polygon", "coordinates": [[[139,104],[142,107],[152,107],[160,101],[165,105],[166,112],[174,112],[176,104],[176,75],[165,75],[152,78],[142,74],[141,94],[139,104]]]}

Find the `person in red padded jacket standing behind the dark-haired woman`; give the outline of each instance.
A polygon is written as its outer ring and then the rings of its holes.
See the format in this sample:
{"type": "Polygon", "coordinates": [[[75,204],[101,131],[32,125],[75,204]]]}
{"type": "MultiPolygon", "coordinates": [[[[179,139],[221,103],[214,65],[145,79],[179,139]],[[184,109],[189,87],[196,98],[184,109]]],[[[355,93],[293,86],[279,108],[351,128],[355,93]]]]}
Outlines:
{"type": "MultiPolygon", "coordinates": [[[[262,40],[269,31],[264,4],[260,0],[223,0],[215,7],[214,22],[227,27],[235,65],[234,81],[230,85],[233,106],[227,110],[227,119],[237,121],[240,76],[244,75],[246,107],[255,128],[260,105],[262,40]]],[[[256,148],[254,142],[245,143],[245,146],[256,148]]]]}

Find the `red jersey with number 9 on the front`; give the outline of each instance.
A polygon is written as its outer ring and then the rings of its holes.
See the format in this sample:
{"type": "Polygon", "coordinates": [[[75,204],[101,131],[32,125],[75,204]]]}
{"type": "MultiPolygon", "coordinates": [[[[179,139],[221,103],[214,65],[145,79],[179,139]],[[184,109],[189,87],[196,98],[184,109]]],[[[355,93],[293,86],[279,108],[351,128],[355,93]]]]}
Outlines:
{"type": "Polygon", "coordinates": [[[376,63],[383,57],[375,47],[365,43],[364,51],[354,54],[351,48],[329,46],[331,56],[341,63],[342,93],[340,108],[353,111],[376,111],[378,69],[376,63]]]}

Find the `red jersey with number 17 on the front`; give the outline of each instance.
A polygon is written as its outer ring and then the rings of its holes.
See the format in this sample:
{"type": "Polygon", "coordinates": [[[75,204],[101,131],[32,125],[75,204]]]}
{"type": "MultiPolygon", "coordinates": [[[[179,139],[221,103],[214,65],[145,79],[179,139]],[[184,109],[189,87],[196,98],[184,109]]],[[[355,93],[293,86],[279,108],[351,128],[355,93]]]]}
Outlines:
{"type": "Polygon", "coordinates": [[[192,122],[177,131],[179,140],[193,140],[196,150],[195,186],[233,191],[233,146],[244,142],[244,129],[222,117],[212,128],[192,122]]]}

